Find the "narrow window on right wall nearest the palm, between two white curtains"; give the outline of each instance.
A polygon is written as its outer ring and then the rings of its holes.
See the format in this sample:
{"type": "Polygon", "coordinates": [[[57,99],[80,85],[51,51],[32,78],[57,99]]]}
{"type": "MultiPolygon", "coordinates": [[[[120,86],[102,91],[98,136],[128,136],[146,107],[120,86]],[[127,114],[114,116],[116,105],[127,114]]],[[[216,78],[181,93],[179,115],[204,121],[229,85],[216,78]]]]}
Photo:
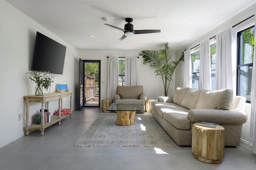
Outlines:
{"type": "Polygon", "coordinates": [[[199,89],[200,51],[191,54],[192,88],[199,89]]]}

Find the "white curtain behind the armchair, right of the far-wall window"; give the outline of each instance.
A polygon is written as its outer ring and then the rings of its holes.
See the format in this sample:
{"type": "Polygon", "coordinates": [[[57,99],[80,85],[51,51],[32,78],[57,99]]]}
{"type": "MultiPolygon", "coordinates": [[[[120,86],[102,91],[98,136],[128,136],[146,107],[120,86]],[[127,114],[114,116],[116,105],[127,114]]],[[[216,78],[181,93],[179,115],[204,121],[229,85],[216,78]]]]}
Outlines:
{"type": "Polygon", "coordinates": [[[125,57],[125,86],[137,85],[137,59],[136,57],[125,57]]]}

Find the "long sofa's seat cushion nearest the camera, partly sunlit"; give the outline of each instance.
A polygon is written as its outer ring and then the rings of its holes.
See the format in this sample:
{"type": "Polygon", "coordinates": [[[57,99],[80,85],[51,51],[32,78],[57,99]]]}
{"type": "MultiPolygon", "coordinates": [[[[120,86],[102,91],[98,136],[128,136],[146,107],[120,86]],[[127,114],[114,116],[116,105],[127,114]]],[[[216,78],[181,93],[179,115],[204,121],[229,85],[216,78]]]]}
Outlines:
{"type": "Polygon", "coordinates": [[[176,106],[172,111],[165,111],[163,113],[164,119],[172,124],[177,129],[189,130],[190,129],[190,120],[187,118],[188,109],[176,106]]]}

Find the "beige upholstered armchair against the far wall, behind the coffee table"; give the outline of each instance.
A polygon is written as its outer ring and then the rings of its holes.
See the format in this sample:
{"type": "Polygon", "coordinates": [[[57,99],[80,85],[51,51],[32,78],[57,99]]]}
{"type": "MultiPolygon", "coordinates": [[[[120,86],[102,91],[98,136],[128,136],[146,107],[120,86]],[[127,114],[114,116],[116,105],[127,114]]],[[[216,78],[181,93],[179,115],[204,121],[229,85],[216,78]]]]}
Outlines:
{"type": "Polygon", "coordinates": [[[113,97],[114,103],[134,103],[138,104],[140,111],[136,113],[145,112],[145,101],[147,97],[143,95],[143,86],[118,86],[116,95],[113,97]]]}

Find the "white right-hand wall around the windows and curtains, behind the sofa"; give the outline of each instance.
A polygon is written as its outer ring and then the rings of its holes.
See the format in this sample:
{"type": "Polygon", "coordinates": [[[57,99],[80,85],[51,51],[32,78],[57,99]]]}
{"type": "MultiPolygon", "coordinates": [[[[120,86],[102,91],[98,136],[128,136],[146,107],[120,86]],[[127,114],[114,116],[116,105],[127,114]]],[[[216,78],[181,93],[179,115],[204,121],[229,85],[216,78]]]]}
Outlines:
{"type": "MultiPolygon", "coordinates": [[[[178,56],[180,56],[180,54],[183,51],[186,51],[187,49],[190,49],[190,48],[200,44],[201,42],[204,42],[205,40],[207,40],[213,36],[216,36],[216,34],[219,34],[220,32],[238,24],[239,22],[245,20],[246,18],[254,15],[255,11],[256,11],[256,4],[250,6],[246,10],[240,12],[239,14],[237,14],[236,16],[223,22],[222,24],[216,26],[212,30],[209,30],[209,32],[207,32],[203,36],[197,38],[196,40],[194,40],[194,41],[190,42],[189,44],[185,45],[184,47],[182,47],[180,50],[176,51],[176,59],[178,59],[178,56]]],[[[183,75],[184,75],[184,64],[181,63],[176,69],[175,87],[183,87],[183,78],[184,78],[183,75]]],[[[243,125],[241,138],[245,142],[248,142],[249,130],[250,130],[250,104],[247,104],[247,103],[246,103],[246,114],[248,116],[248,120],[243,125]]]]}

